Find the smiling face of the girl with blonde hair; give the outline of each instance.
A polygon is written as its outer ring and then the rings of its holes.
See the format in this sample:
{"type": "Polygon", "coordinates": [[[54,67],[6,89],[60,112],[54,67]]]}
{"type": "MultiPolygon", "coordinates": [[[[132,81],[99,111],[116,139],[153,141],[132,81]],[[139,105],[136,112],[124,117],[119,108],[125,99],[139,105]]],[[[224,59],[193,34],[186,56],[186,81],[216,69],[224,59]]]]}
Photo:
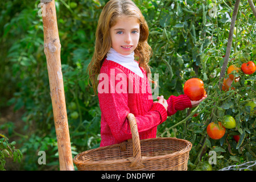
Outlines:
{"type": "Polygon", "coordinates": [[[130,55],[139,42],[139,22],[137,18],[121,16],[110,28],[112,48],[121,55],[130,55]]]}

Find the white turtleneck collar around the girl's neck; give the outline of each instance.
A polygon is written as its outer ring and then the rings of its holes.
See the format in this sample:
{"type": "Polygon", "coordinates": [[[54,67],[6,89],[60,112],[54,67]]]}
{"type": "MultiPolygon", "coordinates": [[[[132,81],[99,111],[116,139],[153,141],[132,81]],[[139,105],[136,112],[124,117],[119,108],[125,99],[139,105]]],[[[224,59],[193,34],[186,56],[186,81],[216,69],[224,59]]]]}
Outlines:
{"type": "Polygon", "coordinates": [[[107,53],[106,60],[121,64],[123,67],[130,69],[130,71],[134,72],[138,76],[142,78],[144,77],[141,68],[139,68],[139,64],[134,60],[134,52],[132,52],[130,55],[121,55],[121,53],[118,53],[113,48],[110,48],[109,52],[107,53]]]}

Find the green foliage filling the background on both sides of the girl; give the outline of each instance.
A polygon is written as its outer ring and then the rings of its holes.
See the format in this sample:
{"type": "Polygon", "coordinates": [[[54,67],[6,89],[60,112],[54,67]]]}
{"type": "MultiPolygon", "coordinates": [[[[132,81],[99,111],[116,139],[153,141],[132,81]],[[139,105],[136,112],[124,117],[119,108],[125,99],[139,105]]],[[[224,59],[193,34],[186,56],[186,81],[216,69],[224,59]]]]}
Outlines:
{"type": "MultiPolygon", "coordinates": [[[[92,97],[86,68],[93,53],[98,16],[106,2],[55,0],[73,156],[100,144],[101,112],[97,96],[92,97]]],[[[159,74],[159,94],[165,98],[183,94],[183,84],[191,77],[201,78],[208,93],[196,110],[199,115],[180,123],[191,110],[177,111],[158,127],[158,136],[183,138],[193,144],[189,170],[208,161],[210,151],[217,153],[213,170],[255,160],[255,115],[246,106],[249,101],[256,103],[255,73],[249,76],[239,72],[235,90],[222,92],[218,88],[223,82],[219,77],[235,1],[134,2],[150,28],[150,66],[152,73],[159,74]],[[217,5],[217,16],[210,16],[212,3],[217,5]],[[227,129],[220,140],[212,140],[206,127],[221,120],[220,113],[232,115],[237,126],[227,129]],[[233,135],[240,135],[238,143],[233,135]]],[[[20,168],[26,170],[58,169],[59,165],[39,3],[0,2],[0,84],[5,85],[0,87],[0,107],[24,110],[22,128],[8,122],[2,129],[10,126],[9,138],[17,137],[16,130],[22,134],[17,142],[24,154],[19,159],[20,168]],[[46,151],[46,165],[38,164],[39,151],[46,151]]],[[[241,65],[249,59],[255,62],[255,17],[247,1],[240,3],[236,30],[228,65],[241,65]]]]}

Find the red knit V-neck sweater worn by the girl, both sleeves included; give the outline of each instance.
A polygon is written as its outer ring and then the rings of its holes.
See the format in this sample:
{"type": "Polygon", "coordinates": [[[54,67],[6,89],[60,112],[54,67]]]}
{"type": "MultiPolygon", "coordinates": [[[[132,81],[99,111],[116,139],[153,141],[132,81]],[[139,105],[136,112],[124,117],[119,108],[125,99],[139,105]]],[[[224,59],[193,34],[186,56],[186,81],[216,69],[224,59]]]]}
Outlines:
{"type": "Polygon", "coordinates": [[[140,139],[155,138],[156,129],[166,121],[167,115],[177,110],[192,107],[188,96],[180,95],[168,98],[167,111],[162,104],[153,103],[150,82],[146,71],[141,68],[144,77],[139,77],[130,69],[105,60],[102,64],[98,99],[101,109],[101,144],[109,146],[131,138],[127,114],[133,113],[140,139]]]}

